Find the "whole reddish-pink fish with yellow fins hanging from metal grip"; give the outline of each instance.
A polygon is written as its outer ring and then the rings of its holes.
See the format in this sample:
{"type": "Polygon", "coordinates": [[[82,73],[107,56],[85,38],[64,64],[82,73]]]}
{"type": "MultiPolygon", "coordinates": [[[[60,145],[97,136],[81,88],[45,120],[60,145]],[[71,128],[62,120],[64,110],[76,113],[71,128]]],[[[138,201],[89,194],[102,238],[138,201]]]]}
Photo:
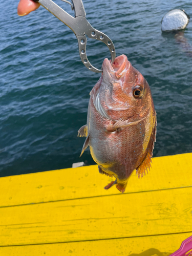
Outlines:
{"type": "MultiPolygon", "coordinates": [[[[102,73],[90,93],[87,124],[79,137],[87,137],[81,155],[90,147],[99,173],[114,177],[124,193],[136,169],[138,178],[150,170],[157,118],[150,86],[123,54],[112,63],[105,58],[102,73]]],[[[81,156],[80,155],[80,156],[81,156]]]]}

